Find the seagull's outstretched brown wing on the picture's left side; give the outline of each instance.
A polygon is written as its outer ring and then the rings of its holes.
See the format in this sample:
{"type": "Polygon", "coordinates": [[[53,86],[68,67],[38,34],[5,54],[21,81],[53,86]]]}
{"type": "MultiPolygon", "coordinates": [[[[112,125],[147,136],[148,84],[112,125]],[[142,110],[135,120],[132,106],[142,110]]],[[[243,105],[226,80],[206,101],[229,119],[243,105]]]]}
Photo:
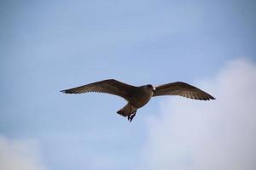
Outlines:
{"type": "Polygon", "coordinates": [[[84,94],[88,92],[98,92],[98,93],[118,95],[128,100],[134,88],[136,87],[131,86],[129,84],[125,84],[124,82],[119,82],[114,79],[109,79],[109,80],[103,80],[100,82],[93,82],[77,88],[61,90],[61,92],[64,94],[84,94]]]}

